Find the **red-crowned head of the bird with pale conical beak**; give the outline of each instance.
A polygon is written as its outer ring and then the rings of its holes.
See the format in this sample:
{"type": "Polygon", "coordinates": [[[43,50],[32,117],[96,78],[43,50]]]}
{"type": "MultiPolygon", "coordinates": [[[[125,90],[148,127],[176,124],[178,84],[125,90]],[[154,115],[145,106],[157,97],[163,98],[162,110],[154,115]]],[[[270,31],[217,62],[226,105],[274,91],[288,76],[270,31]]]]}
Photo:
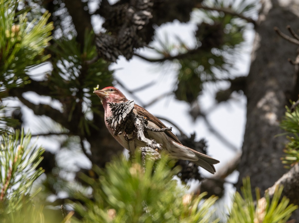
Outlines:
{"type": "Polygon", "coordinates": [[[93,93],[100,97],[103,105],[107,104],[107,102],[119,103],[127,101],[123,93],[115,87],[105,87],[102,90],[94,90],[93,93]]]}

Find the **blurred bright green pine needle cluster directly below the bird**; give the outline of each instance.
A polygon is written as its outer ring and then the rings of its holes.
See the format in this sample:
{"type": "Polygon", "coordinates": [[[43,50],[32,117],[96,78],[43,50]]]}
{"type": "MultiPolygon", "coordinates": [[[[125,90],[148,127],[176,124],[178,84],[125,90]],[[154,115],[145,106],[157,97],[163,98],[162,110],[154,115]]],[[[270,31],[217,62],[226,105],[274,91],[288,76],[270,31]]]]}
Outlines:
{"type": "Polygon", "coordinates": [[[95,168],[99,179],[83,177],[93,189],[93,200],[78,194],[85,205],[77,203],[74,209],[83,219],[71,222],[218,222],[210,220],[216,197],[204,201],[205,194],[186,194],[173,179],[178,168],[172,166],[167,156],[157,162],[147,159],[145,168],[141,160],[121,157],[105,170],[95,168]]]}

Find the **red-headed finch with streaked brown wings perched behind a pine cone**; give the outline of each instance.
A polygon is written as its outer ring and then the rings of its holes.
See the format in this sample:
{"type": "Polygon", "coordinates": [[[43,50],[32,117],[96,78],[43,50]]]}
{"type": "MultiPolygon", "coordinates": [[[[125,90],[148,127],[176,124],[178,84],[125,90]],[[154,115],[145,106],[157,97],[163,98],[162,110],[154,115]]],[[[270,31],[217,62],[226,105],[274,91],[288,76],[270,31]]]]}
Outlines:
{"type": "MultiPolygon", "coordinates": [[[[99,96],[103,104],[104,118],[107,129],[124,148],[129,150],[130,145],[126,133],[115,136],[113,134],[114,131],[112,127],[110,126],[108,121],[106,121],[107,118],[112,116],[112,111],[109,103],[120,103],[129,100],[126,98],[126,96],[123,95],[123,93],[121,93],[120,90],[115,87],[105,87],[102,90],[94,90],[94,93],[99,96]]],[[[147,126],[149,127],[158,129],[166,128],[166,126],[157,117],[137,104],[134,105],[133,113],[135,115],[144,116],[147,119],[147,126]]],[[[162,150],[166,151],[166,153],[168,153],[170,157],[173,157],[175,159],[189,160],[210,173],[214,174],[216,172],[214,164],[219,163],[219,160],[182,145],[179,139],[171,131],[147,131],[147,133],[149,139],[153,139],[157,143],[162,144],[162,150]]],[[[137,137],[132,140],[134,140],[135,149],[148,146],[145,142],[138,140],[137,137]]]]}

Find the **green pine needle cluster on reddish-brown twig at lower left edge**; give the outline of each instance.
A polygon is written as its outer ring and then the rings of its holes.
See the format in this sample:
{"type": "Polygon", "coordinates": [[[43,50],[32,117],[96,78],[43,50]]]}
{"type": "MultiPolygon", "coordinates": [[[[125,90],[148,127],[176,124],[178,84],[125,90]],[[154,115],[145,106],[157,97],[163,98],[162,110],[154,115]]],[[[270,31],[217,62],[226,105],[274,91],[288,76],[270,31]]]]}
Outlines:
{"type": "Polygon", "coordinates": [[[35,209],[28,202],[38,192],[31,193],[31,188],[44,172],[37,168],[44,149],[30,143],[30,134],[24,136],[23,130],[0,137],[0,216],[4,222],[20,222],[22,218],[18,219],[16,213],[35,209]]]}

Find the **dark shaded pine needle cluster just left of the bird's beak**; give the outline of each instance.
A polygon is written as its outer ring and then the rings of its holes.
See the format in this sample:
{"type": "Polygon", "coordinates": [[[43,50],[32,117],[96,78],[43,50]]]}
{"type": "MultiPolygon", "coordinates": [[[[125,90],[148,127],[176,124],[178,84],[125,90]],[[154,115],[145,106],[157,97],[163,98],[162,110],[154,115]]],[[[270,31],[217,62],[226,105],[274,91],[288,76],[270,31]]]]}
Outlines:
{"type": "Polygon", "coordinates": [[[54,40],[49,47],[52,53],[51,62],[53,70],[51,75],[47,76],[47,84],[51,91],[52,98],[65,101],[68,98],[67,105],[68,121],[80,115],[78,129],[81,134],[90,134],[90,126],[97,128],[92,121],[93,114],[100,114],[98,105],[100,100],[92,93],[91,86],[99,83],[101,87],[107,86],[112,82],[112,73],[108,69],[110,63],[103,59],[97,59],[96,47],[94,45],[94,32],[86,31],[84,44],[72,39],[54,40]],[[81,47],[83,53],[81,53],[81,47]],[[78,111],[79,105],[83,105],[86,109],[78,111]],[[77,114],[74,114],[77,113],[77,114]]]}

